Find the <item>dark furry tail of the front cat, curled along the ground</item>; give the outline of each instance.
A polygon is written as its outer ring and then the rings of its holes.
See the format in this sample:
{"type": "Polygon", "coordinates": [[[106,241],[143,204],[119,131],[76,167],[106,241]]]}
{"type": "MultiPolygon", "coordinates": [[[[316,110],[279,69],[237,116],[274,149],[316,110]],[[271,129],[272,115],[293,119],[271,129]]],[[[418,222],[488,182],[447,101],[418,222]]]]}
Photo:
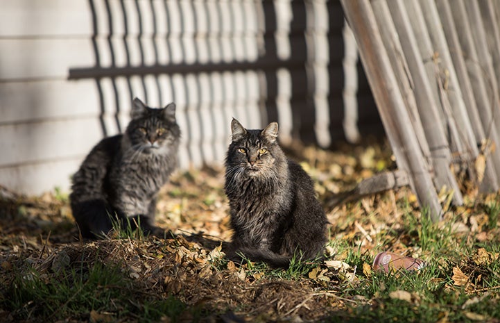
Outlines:
{"type": "Polygon", "coordinates": [[[226,253],[227,258],[235,262],[241,263],[245,259],[250,259],[254,262],[264,262],[271,267],[288,268],[290,266],[291,257],[281,254],[276,254],[269,249],[255,249],[250,247],[241,247],[236,250],[230,250],[226,253]]]}

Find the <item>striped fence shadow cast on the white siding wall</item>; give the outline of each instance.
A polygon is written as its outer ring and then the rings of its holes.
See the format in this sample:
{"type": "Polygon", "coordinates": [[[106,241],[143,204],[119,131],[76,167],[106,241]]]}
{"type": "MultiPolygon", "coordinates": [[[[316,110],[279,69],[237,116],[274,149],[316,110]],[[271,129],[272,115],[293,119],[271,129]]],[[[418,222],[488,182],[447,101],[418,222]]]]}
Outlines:
{"type": "Polygon", "coordinates": [[[123,131],[130,102],[139,97],[150,106],[178,105],[184,159],[196,164],[223,158],[232,117],[248,127],[279,121],[286,135],[313,143],[321,118],[338,138],[343,14],[337,1],[88,4],[95,64],[70,69],[69,79],[95,80],[104,136],[123,131]],[[318,28],[311,17],[322,8],[331,18],[318,28]],[[318,53],[321,38],[325,55],[318,53]],[[318,84],[321,72],[331,75],[327,85],[318,84]],[[317,115],[318,97],[327,120],[317,115]]]}

